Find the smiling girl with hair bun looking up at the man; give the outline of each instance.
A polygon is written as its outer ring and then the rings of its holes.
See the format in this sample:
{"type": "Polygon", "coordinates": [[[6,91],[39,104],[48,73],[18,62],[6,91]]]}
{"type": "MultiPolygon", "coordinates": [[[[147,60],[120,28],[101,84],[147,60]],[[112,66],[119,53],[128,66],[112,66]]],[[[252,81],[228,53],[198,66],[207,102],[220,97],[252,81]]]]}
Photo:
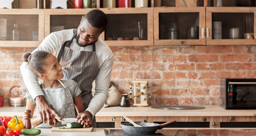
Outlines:
{"type": "MultiPolygon", "coordinates": [[[[74,107],[77,113],[85,111],[81,99],[81,90],[73,80],[60,80],[64,77],[58,59],[51,53],[37,51],[33,54],[24,53],[23,61],[28,62],[31,71],[43,80],[40,87],[45,99],[52,106],[61,118],[75,118],[74,107]]],[[[30,94],[27,95],[26,109],[31,110],[31,116],[35,110],[36,102],[30,94]]],[[[24,117],[23,117],[24,121],[24,117]]],[[[62,126],[52,116],[54,126],[62,126]]],[[[48,123],[43,123],[40,116],[31,118],[31,125],[36,128],[51,128],[48,123]]]]}

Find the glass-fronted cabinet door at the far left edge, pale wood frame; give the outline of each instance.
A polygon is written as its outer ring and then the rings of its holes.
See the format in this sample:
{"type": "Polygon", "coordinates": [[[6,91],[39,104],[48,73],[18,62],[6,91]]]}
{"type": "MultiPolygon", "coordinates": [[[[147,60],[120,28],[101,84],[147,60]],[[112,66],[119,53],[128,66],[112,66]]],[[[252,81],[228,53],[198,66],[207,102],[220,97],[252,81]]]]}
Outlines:
{"type": "Polygon", "coordinates": [[[36,47],[44,39],[44,10],[0,9],[0,46],[36,47]]]}

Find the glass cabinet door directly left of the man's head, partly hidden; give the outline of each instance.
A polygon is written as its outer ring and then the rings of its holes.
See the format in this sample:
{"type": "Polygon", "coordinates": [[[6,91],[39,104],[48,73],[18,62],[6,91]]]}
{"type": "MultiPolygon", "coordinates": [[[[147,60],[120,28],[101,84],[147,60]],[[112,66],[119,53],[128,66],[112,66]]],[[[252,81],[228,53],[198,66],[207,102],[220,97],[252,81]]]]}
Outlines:
{"type": "Polygon", "coordinates": [[[51,32],[61,31],[62,29],[77,29],[82,16],[90,10],[93,9],[45,9],[44,37],[51,32]]]}

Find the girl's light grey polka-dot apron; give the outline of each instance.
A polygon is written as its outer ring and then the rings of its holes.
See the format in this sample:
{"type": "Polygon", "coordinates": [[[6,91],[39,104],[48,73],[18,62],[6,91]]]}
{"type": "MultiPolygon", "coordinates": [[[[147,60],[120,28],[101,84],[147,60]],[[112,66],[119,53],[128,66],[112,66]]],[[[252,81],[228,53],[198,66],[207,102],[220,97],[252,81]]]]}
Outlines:
{"type": "MultiPolygon", "coordinates": [[[[45,99],[52,106],[54,111],[56,111],[58,115],[61,116],[61,118],[75,118],[73,97],[69,89],[66,88],[63,83],[61,83],[61,86],[63,87],[44,88],[43,86],[41,87],[41,89],[44,93],[45,99]]],[[[60,122],[57,122],[57,125],[54,125],[54,126],[63,126],[63,125],[60,122]]],[[[36,128],[52,128],[52,127],[49,127],[48,123],[43,122],[37,125],[36,128]]]]}

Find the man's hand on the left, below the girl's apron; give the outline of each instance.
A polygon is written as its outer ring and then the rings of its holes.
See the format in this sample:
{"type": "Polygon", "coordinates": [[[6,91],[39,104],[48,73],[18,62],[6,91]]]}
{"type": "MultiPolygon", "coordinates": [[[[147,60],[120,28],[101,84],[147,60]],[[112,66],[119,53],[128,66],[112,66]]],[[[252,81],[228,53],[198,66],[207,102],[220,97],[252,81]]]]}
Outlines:
{"type": "Polygon", "coordinates": [[[58,113],[56,113],[51,105],[48,104],[48,102],[45,100],[45,97],[43,95],[37,96],[35,98],[36,100],[36,110],[40,114],[41,120],[43,120],[44,123],[48,122],[49,126],[52,126],[52,117],[51,114],[56,116],[58,120],[61,120],[61,117],[58,116],[58,113]]]}

